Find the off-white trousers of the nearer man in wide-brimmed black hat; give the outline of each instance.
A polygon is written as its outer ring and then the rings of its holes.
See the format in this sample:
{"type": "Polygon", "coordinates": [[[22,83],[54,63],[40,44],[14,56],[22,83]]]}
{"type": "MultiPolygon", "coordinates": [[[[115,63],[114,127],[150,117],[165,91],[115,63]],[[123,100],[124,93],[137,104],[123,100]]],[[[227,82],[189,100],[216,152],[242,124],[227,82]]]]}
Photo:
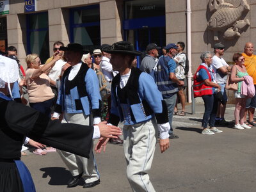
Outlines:
{"type": "Polygon", "coordinates": [[[133,191],[155,191],[148,176],[157,141],[156,119],[124,125],[124,155],[127,179],[133,191]]]}

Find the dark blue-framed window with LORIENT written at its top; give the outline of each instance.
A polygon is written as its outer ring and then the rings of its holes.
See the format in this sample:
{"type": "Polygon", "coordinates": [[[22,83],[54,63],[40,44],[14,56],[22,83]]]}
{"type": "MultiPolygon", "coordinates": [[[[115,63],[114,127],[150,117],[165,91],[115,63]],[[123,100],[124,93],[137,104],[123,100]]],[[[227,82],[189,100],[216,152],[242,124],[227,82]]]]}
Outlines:
{"type": "MultiPolygon", "coordinates": [[[[145,52],[153,42],[161,47],[166,44],[164,0],[124,1],[124,18],[124,39],[132,42],[138,51],[145,52]]],[[[138,57],[138,67],[140,62],[138,57]]]]}

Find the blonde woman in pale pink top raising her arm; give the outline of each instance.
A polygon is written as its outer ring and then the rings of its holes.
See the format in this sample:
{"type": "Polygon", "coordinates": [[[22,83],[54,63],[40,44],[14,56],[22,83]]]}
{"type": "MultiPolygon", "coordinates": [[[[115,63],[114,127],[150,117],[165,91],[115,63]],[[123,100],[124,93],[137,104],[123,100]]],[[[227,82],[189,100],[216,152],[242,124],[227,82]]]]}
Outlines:
{"type": "Polygon", "coordinates": [[[26,57],[26,83],[28,86],[29,105],[45,115],[51,117],[51,106],[54,93],[50,86],[51,79],[45,74],[61,56],[56,52],[49,63],[41,66],[38,54],[28,54],[26,57]]]}

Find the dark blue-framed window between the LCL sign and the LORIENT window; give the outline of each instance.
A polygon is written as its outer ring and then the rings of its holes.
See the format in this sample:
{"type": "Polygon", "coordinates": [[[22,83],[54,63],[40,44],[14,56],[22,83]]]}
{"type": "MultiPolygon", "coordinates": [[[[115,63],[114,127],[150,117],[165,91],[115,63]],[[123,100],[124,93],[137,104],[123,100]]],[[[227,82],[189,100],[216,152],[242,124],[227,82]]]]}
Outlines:
{"type": "Polygon", "coordinates": [[[70,42],[92,50],[100,46],[99,4],[70,9],[70,42]]]}

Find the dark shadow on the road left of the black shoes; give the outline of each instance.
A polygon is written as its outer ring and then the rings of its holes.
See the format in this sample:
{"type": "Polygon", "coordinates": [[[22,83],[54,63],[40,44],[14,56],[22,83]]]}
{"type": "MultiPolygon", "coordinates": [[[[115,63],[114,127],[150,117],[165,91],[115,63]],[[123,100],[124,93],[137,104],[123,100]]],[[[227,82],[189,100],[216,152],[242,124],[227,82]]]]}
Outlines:
{"type": "MultiPolygon", "coordinates": [[[[44,172],[42,178],[49,176],[49,185],[52,186],[65,186],[68,180],[72,177],[71,173],[63,167],[45,167],[41,168],[40,171],[44,172]]],[[[79,181],[79,185],[83,185],[82,181],[79,181]]]]}

